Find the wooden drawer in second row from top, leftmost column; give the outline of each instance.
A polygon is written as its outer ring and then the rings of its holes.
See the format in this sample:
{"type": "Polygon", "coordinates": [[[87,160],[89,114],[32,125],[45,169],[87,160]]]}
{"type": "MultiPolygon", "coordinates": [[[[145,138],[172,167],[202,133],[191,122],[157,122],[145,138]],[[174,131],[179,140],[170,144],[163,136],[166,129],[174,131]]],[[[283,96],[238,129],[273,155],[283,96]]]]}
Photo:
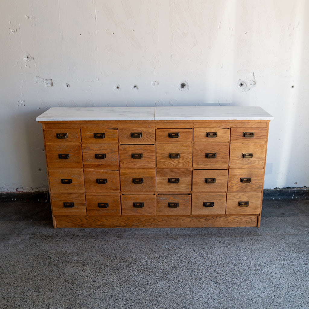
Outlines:
{"type": "Polygon", "coordinates": [[[45,144],[45,150],[49,168],[83,167],[82,146],[80,144],[45,144]]]}

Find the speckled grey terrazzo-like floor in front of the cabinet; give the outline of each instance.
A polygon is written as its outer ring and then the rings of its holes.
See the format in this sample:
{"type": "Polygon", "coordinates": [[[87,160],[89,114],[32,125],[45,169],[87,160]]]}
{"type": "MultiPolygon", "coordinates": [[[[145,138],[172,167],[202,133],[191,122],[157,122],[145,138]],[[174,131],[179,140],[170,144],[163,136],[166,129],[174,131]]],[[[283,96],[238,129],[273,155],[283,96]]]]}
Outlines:
{"type": "Polygon", "coordinates": [[[53,229],[49,203],[0,204],[0,308],[309,308],[309,202],[260,228],[53,229]]]}

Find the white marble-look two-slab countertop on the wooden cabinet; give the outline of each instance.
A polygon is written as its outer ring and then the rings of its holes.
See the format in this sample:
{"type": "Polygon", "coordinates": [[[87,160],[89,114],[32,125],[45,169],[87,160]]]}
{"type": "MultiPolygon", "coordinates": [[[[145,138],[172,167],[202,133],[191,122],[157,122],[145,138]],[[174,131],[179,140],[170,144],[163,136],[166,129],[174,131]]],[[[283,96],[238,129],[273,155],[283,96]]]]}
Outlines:
{"type": "Polygon", "coordinates": [[[272,120],[260,107],[157,106],[157,107],[52,107],[36,121],[103,120],[272,120]]]}

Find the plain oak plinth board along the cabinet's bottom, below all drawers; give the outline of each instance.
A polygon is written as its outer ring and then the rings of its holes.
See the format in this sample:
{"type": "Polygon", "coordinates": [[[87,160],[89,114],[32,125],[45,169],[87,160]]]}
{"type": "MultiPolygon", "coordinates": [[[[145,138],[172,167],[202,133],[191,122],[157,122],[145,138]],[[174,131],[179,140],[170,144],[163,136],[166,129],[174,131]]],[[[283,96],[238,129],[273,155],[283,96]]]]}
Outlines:
{"type": "Polygon", "coordinates": [[[57,227],[245,227],[258,225],[257,215],[212,217],[56,216],[57,227]]]}

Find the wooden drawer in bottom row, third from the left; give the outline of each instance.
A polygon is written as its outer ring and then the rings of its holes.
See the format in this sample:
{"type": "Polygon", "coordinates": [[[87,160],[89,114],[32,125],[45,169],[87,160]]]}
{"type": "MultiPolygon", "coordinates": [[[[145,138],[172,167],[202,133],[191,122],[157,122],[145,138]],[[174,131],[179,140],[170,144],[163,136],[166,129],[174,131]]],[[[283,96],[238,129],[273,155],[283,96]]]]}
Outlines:
{"type": "Polygon", "coordinates": [[[155,216],[156,198],[150,194],[128,194],[121,196],[121,211],[124,216],[155,216]]]}

